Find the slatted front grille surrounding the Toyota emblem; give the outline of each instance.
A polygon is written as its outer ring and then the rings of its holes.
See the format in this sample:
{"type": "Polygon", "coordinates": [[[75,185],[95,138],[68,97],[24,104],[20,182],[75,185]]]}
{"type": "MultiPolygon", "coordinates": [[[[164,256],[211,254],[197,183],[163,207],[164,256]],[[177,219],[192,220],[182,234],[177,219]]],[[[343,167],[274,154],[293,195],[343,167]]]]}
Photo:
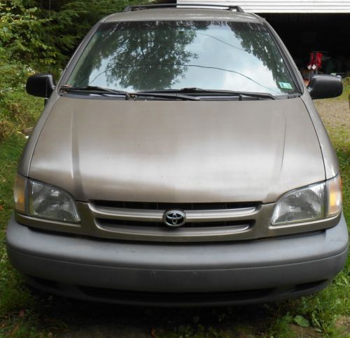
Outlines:
{"type": "MultiPolygon", "coordinates": [[[[87,204],[103,236],[137,241],[211,241],[250,232],[259,203],[149,203],[94,201],[87,204]],[[165,212],[181,211],[186,222],[165,224],[165,212]]],[[[227,239],[227,240],[228,240],[227,239]]]]}

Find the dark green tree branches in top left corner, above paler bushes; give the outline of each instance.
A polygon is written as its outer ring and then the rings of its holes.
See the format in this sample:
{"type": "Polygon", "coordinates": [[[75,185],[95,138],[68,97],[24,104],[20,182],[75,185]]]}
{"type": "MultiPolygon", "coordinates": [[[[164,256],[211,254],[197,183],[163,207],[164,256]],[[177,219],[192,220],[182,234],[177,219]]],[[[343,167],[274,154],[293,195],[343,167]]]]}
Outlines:
{"type": "MultiPolygon", "coordinates": [[[[149,2],[145,0],[144,2],[149,2]]],[[[0,48],[38,70],[62,68],[101,18],[140,0],[0,0],[0,48]]]]}

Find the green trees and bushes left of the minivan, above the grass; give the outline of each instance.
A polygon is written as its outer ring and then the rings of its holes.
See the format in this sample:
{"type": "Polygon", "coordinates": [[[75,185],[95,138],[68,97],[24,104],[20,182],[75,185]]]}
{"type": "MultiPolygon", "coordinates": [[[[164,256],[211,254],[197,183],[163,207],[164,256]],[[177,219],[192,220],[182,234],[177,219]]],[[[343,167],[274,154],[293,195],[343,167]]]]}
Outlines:
{"type": "Polygon", "coordinates": [[[58,76],[94,23],[140,2],[0,0],[0,142],[33,126],[42,108],[42,99],[25,94],[27,76],[44,71],[58,76]]]}

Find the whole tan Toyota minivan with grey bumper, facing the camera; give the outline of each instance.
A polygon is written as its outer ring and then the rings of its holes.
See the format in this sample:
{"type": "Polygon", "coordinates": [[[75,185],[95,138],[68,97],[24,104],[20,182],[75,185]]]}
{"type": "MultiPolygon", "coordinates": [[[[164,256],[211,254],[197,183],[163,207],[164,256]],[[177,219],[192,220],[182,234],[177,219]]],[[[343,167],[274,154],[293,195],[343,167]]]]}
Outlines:
{"type": "Polygon", "coordinates": [[[18,166],[10,262],[67,297],[148,305],[267,302],[344,266],[339,166],[272,27],[238,6],[131,6],[95,25],[18,166]]]}

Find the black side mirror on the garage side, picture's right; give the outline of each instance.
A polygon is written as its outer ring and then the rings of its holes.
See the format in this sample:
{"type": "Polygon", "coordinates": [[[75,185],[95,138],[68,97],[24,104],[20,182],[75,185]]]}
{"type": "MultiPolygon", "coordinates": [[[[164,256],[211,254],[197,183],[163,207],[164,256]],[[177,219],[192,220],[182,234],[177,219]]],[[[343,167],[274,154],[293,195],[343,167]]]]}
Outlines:
{"type": "Polygon", "coordinates": [[[314,75],[307,87],[312,99],[326,99],[342,95],[342,79],[333,75],[314,75]]]}

